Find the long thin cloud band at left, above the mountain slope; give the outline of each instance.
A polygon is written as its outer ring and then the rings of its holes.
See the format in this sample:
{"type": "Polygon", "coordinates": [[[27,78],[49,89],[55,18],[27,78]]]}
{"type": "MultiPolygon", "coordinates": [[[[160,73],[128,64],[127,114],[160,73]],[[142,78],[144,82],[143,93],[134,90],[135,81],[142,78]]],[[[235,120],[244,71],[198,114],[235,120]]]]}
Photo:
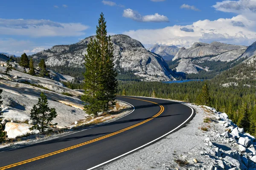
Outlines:
{"type": "Polygon", "coordinates": [[[81,23],[58,23],[51,20],[0,19],[0,34],[29,37],[80,36],[88,28],[81,23]]]}

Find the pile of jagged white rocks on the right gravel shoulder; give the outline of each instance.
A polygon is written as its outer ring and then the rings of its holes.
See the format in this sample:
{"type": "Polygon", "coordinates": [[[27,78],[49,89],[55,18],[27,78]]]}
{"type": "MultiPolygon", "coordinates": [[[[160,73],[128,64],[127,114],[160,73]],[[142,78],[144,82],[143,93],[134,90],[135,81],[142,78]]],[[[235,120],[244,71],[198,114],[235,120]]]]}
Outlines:
{"type": "Polygon", "coordinates": [[[209,156],[214,160],[212,170],[256,170],[256,140],[243,128],[237,127],[226,113],[217,112],[214,108],[205,108],[213,111],[218,121],[223,124],[223,133],[218,130],[206,135],[205,151],[201,155],[209,156]],[[215,135],[214,135],[215,134],[215,135]],[[222,145],[223,144],[223,145],[222,145]]]}

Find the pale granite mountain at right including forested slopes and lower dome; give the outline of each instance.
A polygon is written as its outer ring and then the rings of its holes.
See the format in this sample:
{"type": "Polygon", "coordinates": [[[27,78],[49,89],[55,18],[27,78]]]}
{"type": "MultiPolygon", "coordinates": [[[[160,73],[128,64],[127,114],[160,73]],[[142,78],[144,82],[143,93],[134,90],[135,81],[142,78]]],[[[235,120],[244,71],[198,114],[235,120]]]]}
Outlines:
{"type": "Polygon", "coordinates": [[[241,60],[236,62],[236,59],[246,49],[243,45],[195,42],[190,48],[180,48],[172,62],[169,62],[169,68],[175,69],[179,74],[200,74],[186,75],[187,79],[211,79],[221,71],[239,64],[241,60]]]}

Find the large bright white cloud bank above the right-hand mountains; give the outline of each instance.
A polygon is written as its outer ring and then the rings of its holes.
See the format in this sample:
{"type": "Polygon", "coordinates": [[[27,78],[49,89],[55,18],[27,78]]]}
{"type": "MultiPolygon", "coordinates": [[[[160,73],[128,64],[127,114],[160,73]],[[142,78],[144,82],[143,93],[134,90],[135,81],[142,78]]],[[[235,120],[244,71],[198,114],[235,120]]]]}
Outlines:
{"type": "Polygon", "coordinates": [[[129,35],[145,45],[157,43],[188,48],[194,42],[212,41],[251,45],[256,41],[256,20],[238,15],[233,18],[220,18],[212,21],[199,20],[186,26],[175,25],[160,29],[130,30],[123,34],[129,35]]]}

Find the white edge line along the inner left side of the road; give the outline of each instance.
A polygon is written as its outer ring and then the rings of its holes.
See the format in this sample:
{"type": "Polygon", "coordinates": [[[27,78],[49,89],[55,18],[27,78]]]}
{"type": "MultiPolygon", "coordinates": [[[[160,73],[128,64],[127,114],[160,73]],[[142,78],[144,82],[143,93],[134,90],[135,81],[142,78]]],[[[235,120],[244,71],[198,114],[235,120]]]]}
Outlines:
{"type": "MultiPolygon", "coordinates": [[[[116,100],[117,100],[117,101],[120,101],[120,102],[124,102],[124,101],[122,101],[122,100],[118,100],[118,99],[116,99],[116,100]]],[[[128,105],[131,105],[131,104],[128,103],[128,102],[124,102],[124,103],[126,103],[126,104],[128,104],[128,105]]],[[[102,125],[105,125],[105,124],[114,122],[114,121],[116,121],[116,120],[118,120],[118,119],[121,119],[121,118],[123,118],[123,117],[125,117],[125,116],[131,114],[131,113],[134,112],[134,110],[135,110],[135,107],[134,107],[133,105],[131,105],[131,106],[133,107],[133,110],[132,110],[130,113],[125,114],[125,115],[123,115],[123,116],[121,116],[121,117],[119,117],[119,118],[117,118],[117,119],[114,119],[114,120],[112,120],[112,121],[110,121],[110,122],[102,123],[102,124],[99,124],[99,125],[96,125],[96,126],[93,126],[93,127],[87,128],[87,129],[84,129],[84,130],[89,130],[89,129],[92,129],[92,128],[94,128],[94,127],[98,127],[98,126],[102,126],[102,125]]],[[[84,130],[79,130],[79,131],[76,131],[76,132],[74,132],[74,133],[79,133],[79,132],[82,132],[82,131],[84,131],[84,130]]],[[[63,135],[63,136],[72,135],[72,134],[74,134],[74,133],[69,133],[69,134],[63,135]]],[[[63,137],[63,136],[58,136],[58,137],[56,137],[56,138],[47,139],[47,140],[42,140],[42,141],[40,141],[40,142],[35,142],[35,143],[33,143],[33,144],[38,144],[38,143],[41,143],[41,142],[46,142],[46,141],[49,141],[49,140],[58,139],[58,138],[61,138],[61,137],[63,137]]],[[[27,145],[24,145],[24,146],[21,146],[21,147],[27,147],[27,146],[30,146],[30,145],[32,145],[32,144],[27,144],[27,145]]],[[[19,148],[21,148],[21,147],[16,147],[16,148],[9,149],[9,150],[3,150],[3,151],[1,151],[0,153],[6,152],[6,151],[10,151],[10,150],[19,149],[19,148]]]]}

